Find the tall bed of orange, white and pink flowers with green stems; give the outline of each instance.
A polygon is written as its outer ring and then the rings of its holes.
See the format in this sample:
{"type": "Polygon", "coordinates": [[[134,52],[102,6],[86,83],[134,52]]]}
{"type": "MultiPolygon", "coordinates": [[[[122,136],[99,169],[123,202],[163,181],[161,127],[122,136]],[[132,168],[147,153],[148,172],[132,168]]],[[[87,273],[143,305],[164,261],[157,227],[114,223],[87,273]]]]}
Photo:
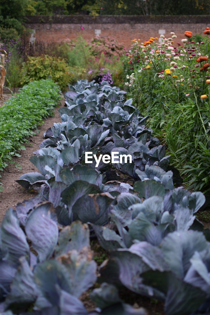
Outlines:
{"type": "Polygon", "coordinates": [[[185,32],[157,37],[140,44],[134,40],[125,55],[126,85],[140,111],[149,115],[155,134],[166,138],[172,165],[195,190],[210,187],[210,30],[200,42],[185,32]]]}

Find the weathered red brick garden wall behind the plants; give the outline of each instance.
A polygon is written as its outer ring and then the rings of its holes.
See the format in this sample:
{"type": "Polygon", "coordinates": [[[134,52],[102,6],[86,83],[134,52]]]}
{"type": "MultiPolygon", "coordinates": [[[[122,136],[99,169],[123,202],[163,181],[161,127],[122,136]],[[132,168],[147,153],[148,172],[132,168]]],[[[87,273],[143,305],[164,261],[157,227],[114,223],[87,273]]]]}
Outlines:
{"type": "Polygon", "coordinates": [[[35,31],[38,41],[61,42],[67,38],[73,39],[82,35],[85,39],[95,36],[95,30],[101,30],[101,37],[111,36],[129,48],[133,38],[141,41],[149,37],[159,37],[158,31],[165,30],[165,36],[170,37],[173,31],[177,35],[175,43],[184,38],[184,31],[192,31],[193,35],[203,33],[210,26],[210,15],[182,16],[105,16],[96,18],[85,15],[59,16],[27,16],[26,27],[35,31]],[[81,26],[84,29],[81,29],[81,26]]]}

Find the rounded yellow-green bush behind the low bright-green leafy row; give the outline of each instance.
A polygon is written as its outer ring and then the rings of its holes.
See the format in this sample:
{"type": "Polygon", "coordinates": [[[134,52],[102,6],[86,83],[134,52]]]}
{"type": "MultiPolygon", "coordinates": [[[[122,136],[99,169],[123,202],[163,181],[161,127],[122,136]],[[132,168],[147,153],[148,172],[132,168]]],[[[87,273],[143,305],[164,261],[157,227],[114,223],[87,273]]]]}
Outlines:
{"type": "Polygon", "coordinates": [[[70,83],[70,74],[65,60],[45,55],[43,57],[29,57],[23,63],[22,84],[47,79],[48,77],[57,82],[61,90],[65,90],[67,84],[70,83]]]}

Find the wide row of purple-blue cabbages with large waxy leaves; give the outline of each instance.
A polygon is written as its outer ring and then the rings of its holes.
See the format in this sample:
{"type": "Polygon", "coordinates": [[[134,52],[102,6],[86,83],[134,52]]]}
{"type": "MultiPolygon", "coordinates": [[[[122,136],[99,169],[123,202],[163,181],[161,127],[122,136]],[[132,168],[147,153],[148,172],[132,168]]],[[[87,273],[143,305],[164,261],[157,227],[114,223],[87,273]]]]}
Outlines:
{"type": "Polygon", "coordinates": [[[121,301],[122,285],[165,301],[167,315],[207,314],[210,236],[195,217],[204,195],[174,188],[177,171],[125,91],[86,80],[69,89],[62,122],[30,159],[40,173],[17,180],[38,194],[9,209],[1,226],[3,314],[87,314],[78,298],[96,281],[90,314],[145,314],[121,301]],[[130,154],[132,163],[96,168],[85,152],[130,154]],[[110,253],[99,268],[91,237],[110,253]]]}

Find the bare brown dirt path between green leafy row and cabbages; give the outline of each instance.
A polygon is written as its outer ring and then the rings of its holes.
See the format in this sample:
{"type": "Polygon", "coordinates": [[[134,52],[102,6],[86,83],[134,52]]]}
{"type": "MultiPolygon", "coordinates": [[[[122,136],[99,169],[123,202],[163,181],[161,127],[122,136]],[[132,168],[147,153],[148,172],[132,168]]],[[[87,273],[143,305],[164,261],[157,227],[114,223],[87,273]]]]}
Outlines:
{"type": "MultiPolygon", "coordinates": [[[[5,94],[5,98],[9,99],[11,94],[5,94]]],[[[5,100],[2,102],[2,104],[5,100]]],[[[9,164],[9,166],[1,172],[0,181],[3,183],[3,192],[0,193],[0,222],[3,220],[4,214],[9,207],[14,207],[16,203],[22,202],[24,199],[30,199],[33,194],[30,194],[26,189],[15,182],[20,175],[29,172],[38,172],[37,168],[29,161],[33,156],[33,151],[39,149],[39,144],[44,140],[44,132],[53,126],[53,123],[61,122],[58,109],[64,106],[65,101],[61,100],[61,106],[56,107],[54,110],[55,116],[45,119],[43,125],[39,126],[40,133],[30,137],[28,140],[31,145],[26,145],[26,150],[20,151],[21,157],[15,157],[14,161],[18,163],[22,169],[15,167],[15,164],[9,164]]],[[[1,105],[1,102],[0,102],[1,105]]]]}

